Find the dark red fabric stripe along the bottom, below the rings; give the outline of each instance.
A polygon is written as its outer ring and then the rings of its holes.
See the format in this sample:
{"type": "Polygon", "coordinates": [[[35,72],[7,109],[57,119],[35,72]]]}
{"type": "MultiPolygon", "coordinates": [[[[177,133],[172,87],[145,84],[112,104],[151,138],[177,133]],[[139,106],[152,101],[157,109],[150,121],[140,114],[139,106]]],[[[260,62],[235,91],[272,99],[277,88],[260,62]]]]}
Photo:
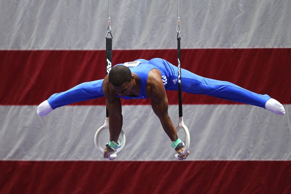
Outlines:
{"type": "Polygon", "coordinates": [[[291,161],[0,161],[0,193],[291,193],[291,161]]]}

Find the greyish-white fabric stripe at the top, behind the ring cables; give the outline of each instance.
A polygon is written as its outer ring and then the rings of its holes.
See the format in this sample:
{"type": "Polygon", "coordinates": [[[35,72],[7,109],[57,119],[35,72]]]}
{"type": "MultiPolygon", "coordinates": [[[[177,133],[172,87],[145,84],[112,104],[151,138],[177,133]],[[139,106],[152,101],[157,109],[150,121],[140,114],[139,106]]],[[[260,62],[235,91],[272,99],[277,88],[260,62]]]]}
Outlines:
{"type": "MultiPolygon", "coordinates": [[[[107,8],[107,1],[0,1],[0,49],[105,50],[107,8]]],[[[176,49],[176,2],[120,0],[110,9],[113,49],[176,49]]],[[[290,10],[286,0],[181,1],[181,47],[290,48],[290,10]]]]}

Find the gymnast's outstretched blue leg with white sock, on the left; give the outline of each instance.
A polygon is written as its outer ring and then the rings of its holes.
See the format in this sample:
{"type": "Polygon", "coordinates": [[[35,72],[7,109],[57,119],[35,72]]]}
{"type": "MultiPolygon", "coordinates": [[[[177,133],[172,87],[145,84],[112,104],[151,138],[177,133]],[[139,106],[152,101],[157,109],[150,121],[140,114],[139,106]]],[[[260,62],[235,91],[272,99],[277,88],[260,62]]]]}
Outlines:
{"type": "Polygon", "coordinates": [[[53,94],[49,99],[38,105],[37,114],[39,116],[45,116],[60,106],[103,97],[102,83],[103,79],[85,82],[65,92],[53,94]]]}

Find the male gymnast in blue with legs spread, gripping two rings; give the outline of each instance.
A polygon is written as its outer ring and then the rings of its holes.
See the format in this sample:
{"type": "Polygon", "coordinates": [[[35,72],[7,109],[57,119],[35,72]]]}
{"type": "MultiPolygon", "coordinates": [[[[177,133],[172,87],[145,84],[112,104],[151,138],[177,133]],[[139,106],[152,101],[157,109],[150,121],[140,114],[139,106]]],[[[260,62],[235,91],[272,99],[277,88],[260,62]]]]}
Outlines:
{"type": "MultiPolygon", "coordinates": [[[[204,78],[181,70],[182,91],[192,94],[205,94],[217,98],[259,106],[279,115],[285,114],[283,105],[269,95],[261,95],[243,89],[235,84],[204,78]]],[[[38,105],[37,114],[45,116],[53,109],[94,98],[105,96],[109,111],[109,142],[104,149],[104,158],[120,147],[118,141],[122,128],[122,99],[151,99],[152,109],[159,117],[162,127],[172,141],[171,146],[179,158],[183,155],[184,143],[178,138],[176,129],[168,115],[166,90],[178,90],[178,69],[164,59],[137,59],[134,62],[115,65],[104,79],[79,84],[65,92],[56,93],[38,105]]]]}

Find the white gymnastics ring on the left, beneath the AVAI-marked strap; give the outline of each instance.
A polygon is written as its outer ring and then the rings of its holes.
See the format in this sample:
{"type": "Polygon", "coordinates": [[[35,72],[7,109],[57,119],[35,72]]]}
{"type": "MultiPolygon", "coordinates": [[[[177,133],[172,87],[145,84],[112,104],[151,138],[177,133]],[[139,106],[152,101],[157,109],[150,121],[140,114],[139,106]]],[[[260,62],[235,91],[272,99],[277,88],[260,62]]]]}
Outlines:
{"type": "MultiPolygon", "coordinates": [[[[99,142],[98,142],[98,137],[99,137],[99,134],[100,134],[100,132],[102,132],[104,129],[109,129],[109,118],[107,117],[106,119],[105,119],[105,123],[104,123],[104,125],[102,125],[97,131],[96,131],[96,133],[95,133],[95,137],[94,137],[94,142],[95,142],[95,146],[96,146],[96,148],[97,149],[99,149],[99,151],[102,153],[102,154],[104,154],[104,150],[102,149],[102,147],[99,145],[99,142]]],[[[123,147],[124,147],[124,145],[125,145],[125,134],[124,134],[124,132],[121,130],[121,132],[120,132],[120,135],[121,135],[121,146],[120,146],[120,148],[118,148],[115,152],[113,152],[112,154],[110,154],[110,156],[109,156],[109,160],[114,160],[115,158],[116,158],[116,156],[117,156],[117,153],[119,153],[122,149],[123,149],[123,147]]]]}

